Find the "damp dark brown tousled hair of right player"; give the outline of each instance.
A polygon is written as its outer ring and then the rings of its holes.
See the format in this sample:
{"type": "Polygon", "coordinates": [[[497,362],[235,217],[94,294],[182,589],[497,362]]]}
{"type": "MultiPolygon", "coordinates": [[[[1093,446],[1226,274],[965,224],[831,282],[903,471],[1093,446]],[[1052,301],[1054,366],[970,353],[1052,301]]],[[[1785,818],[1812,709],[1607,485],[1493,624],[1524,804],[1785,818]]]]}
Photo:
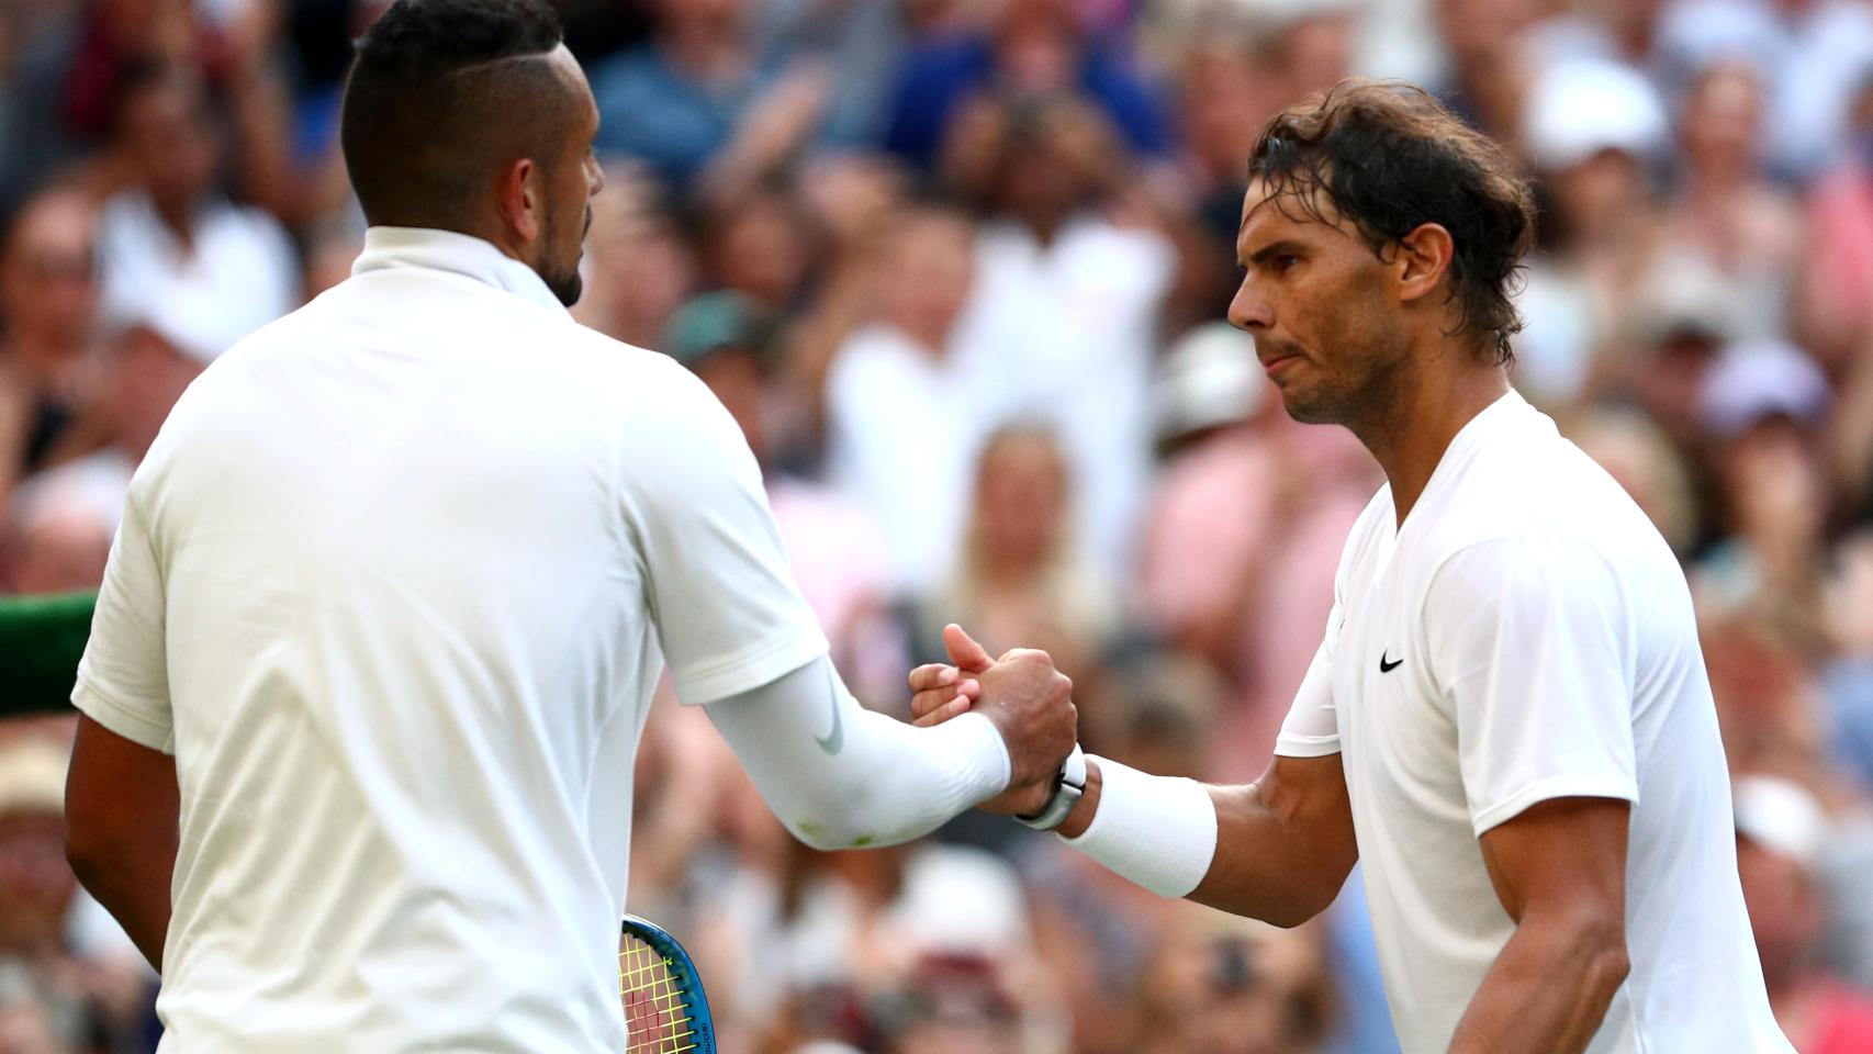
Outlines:
{"type": "Polygon", "coordinates": [[[1502,148],[1425,90],[1350,79],[1281,110],[1249,155],[1249,180],[1311,219],[1332,202],[1380,258],[1420,225],[1450,230],[1455,333],[1487,333],[1497,361],[1513,358],[1534,198],[1502,148]]]}

